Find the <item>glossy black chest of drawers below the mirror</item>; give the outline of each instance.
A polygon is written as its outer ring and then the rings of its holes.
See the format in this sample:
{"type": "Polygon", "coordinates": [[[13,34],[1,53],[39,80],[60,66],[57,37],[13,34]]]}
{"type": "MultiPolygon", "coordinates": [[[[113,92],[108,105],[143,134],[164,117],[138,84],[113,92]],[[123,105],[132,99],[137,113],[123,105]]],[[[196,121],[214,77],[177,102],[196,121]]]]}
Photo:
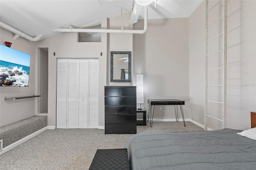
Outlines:
{"type": "Polygon", "coordinates": [[[105,86],[105,134],[135,134],[136,126],[136,86],[105,86]]]}

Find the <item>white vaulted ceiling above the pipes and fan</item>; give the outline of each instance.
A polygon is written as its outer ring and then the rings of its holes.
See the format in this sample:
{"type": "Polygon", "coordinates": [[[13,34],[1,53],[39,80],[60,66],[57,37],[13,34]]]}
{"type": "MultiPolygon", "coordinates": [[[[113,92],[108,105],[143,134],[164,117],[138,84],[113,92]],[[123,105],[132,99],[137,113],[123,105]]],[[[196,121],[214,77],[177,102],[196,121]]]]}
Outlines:
{"type": "MultiPolygon", "coordinates": [[[[148,5],[148,19],[187,18],[202,0],[174,0],[180,12],[171,14],[161,6],[148,5]]],[[[56,28],[81,27],[103,18],[132,12],[134,0],[0,0],[0,21],[31,37],[58,34],[56,28]]],[[[144,12],[139,19],[143,19],[144,12]]],[[[120,23],[121,25],[121,23],[120,23]]]]}

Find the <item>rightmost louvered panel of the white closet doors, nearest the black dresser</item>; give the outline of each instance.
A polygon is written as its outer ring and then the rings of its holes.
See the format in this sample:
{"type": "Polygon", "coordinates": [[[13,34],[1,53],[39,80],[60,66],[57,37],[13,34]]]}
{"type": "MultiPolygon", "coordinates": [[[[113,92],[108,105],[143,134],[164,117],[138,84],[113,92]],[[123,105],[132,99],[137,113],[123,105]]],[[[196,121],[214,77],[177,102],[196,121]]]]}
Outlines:
{"type": "Polygon", "coordinates": [[[89,59],[89,128],[98,128],[98,59],[89,59]]]}

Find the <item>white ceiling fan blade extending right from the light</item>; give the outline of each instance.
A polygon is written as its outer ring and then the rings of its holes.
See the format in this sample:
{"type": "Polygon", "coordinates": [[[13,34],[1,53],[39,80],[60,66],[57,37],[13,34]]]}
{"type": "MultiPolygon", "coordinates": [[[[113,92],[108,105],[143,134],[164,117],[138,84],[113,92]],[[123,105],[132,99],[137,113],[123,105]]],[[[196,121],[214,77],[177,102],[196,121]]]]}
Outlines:
{"type": "Polygon", "coordinates": [[[157,0],[156,4],[162,6],[164,9],[166,9],[172,14],[176,14],[180,11],[180,4],[173,0],[157,0]]]}

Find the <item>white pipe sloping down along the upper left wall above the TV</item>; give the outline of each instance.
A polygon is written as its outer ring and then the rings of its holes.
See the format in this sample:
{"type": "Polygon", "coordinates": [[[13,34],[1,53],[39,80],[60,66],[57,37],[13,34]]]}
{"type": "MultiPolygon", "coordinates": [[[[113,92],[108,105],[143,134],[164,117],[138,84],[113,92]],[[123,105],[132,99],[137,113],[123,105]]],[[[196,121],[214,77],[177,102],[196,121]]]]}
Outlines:
{"type": "Polygon", "coordinates": [[[13,32],[13,33],[15,33],[15,35],[13,36],[13,39],[14,39],[14,40],[16,40],[18,37],[21,36],[21,37],[24,37],[24,38],[28,39],[29,41],[38,41],[38,40],[40,40],[40,39],[42,38],[42,36],[44,35],[44,34],[40,34],[40,35],[36,35],[36,37],[30,37],[29,35],[26,35],[25,33],[23,33],[23,32],[21,32],[21,31],[15,29],[15,28],[13,28],[13,27],[11,27],[11,26],[5,24],[5,23],[2,23],[1,21],[0,21],[0,26],[1,26],[2,28],[5,28],[5,29],[7,29],[7,30],[9,30],[9,31],[11,31],[11,32],[13,32]]]}

